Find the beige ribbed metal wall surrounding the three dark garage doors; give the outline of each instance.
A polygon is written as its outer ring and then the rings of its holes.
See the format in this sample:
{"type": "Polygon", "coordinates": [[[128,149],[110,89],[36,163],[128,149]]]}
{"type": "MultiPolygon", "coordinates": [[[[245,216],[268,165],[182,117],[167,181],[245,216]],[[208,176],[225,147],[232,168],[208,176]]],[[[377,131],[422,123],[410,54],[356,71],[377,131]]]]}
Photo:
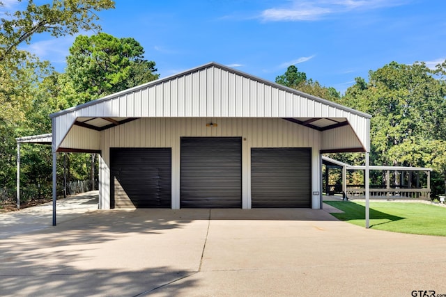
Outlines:
{"type": "MultiPolygon", "coordinates": [[[[109,208],[109,147],[171,147],[172,207],[180,205],[180,137],[242,137],[243,208],[251,208],[252,147],[312,147],[312,191],[320,191],[321,132],[277,118],[142,118],[100,132],[100,207],[109,208]],[[217,127],[206,127],[207,123],[217,127]]],[[[312,198],[319,208],[319,195],[312,198]]]]}

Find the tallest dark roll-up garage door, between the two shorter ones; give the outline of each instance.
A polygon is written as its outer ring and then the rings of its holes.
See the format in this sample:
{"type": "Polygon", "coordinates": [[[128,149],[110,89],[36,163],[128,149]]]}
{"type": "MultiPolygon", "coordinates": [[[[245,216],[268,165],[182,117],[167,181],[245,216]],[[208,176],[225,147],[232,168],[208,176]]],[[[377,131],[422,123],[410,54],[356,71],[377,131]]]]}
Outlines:
{"type": "Polygon", "coordinates": [[[180,207],[242,207],[242,139],[181,138],[180,207]]]}

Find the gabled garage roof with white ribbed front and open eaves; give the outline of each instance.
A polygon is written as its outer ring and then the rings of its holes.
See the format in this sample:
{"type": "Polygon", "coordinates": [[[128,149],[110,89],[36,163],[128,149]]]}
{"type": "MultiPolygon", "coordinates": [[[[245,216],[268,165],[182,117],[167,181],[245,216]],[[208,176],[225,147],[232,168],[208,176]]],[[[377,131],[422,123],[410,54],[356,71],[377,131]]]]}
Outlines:
{"type": "Polygon", "coordinates": [[[325,146],[334,152],[369,150],[371,115],[212,62],[50,117],[54,151],[73,125],[102,131],[138,118],[283,118],[318,131],[351,127],[356,140],[325,146]]]}

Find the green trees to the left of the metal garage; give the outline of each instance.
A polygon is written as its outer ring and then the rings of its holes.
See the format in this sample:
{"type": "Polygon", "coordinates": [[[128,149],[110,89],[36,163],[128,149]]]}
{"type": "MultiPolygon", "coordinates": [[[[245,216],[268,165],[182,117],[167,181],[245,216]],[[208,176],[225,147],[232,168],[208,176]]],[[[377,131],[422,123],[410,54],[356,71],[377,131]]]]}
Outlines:
{"type": "MultiPolygon", "coordinates": [[[[0,8],[3,4],[0,2],[0,8]]],[[[0,198],[15,195],[15,138],[51,132],[49,114],[159,77],[155,62],[144,58],[134,38],[100,32],[96,13],[114,8],[111,0],[55,0],[38,5],[27,1],[22,10],[0,19],[0,198]],[[66,70],[57,72],[47,61],[20,48],[34,35],[54,38],[77,35],[66,57],[66,70]]],[[[22,144],[22,198],[51,196],[51,147],[22,144]]],[[[89,180],[97,172],[94,156],[65,154],[57,161],[58,184],[63,170],[70,180],[89,180]]],[[[91,187],[94,186],[91,180],[91,187]]]]}

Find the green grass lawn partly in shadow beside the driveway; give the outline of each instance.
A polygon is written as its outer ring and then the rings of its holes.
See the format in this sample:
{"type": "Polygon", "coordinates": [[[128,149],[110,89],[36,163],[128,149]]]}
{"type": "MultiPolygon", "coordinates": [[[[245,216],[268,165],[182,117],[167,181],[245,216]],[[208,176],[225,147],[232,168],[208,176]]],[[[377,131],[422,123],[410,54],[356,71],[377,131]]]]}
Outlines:
{"type": "MultiPolygon", "coordinates": [[[[365,227],[365,203],[325,201],[344,214],[331,214],[365,227]]],[[[446,207],[416,202],[370,202],[370,227],[392,232],[446,236],[446,207]]]]}

